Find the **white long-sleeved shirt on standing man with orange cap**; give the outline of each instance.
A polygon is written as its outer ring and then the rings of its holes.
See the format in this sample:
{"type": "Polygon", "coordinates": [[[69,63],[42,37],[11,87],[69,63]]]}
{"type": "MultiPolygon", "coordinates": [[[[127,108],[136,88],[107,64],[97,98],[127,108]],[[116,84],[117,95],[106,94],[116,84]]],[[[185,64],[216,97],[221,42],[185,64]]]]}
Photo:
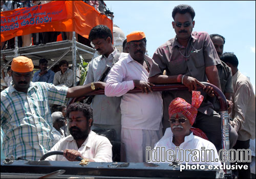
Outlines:
{"type": "MultiPolygon", "coordinates": [[[[152,64],[152,59],[145,56],[152,64]]],[[[122,53],[108,75],[105,95],[122,96],[121,125],[128,129],[159,130],[162,121],[162,96],[160,92],[127,93],[133,89],[133,80],[148,81],[149,73],[130,54],[122,53]]]]}

